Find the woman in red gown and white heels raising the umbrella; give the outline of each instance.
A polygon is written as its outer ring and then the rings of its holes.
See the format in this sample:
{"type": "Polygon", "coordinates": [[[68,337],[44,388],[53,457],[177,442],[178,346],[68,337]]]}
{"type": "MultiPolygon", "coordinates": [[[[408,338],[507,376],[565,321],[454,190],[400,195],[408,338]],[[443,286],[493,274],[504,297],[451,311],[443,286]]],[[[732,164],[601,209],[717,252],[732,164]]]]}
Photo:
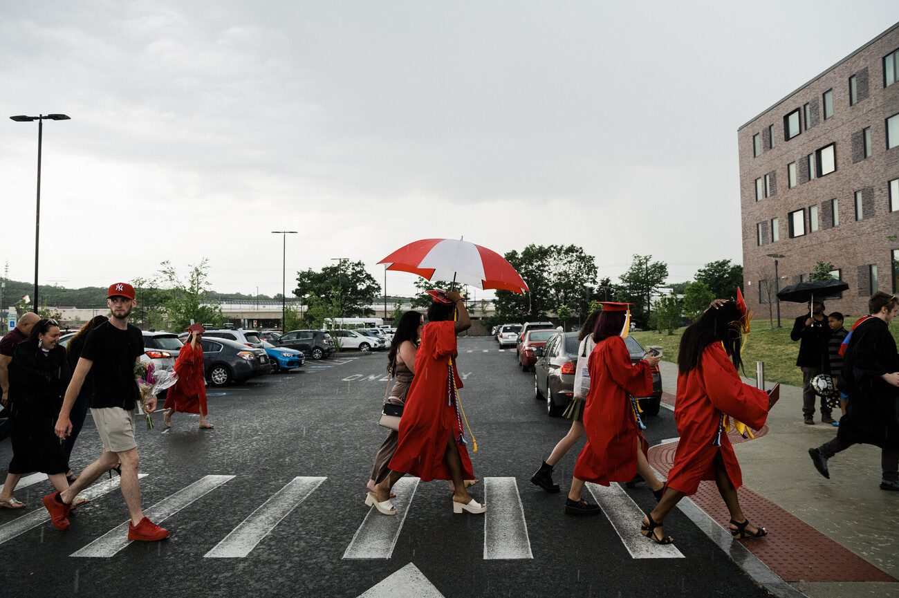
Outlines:
{"type": "Polygon", "coordinates": [[[484,513],[486,505],[479,504],[466,489],[465,480],[475,475],[456,392],[462,387],[456,370],[456,335],[471,326],[471,319],[458,292],[430,292],[434,302],[428,308],[428,323],[415,353],[415,377],[405,399],[390,472],[375,486],[375,492],[366,495],[365,504],[379,513],[396,514],[390,490],[408,473],[423,482],[451,479],[453,513],[484,513]]]}

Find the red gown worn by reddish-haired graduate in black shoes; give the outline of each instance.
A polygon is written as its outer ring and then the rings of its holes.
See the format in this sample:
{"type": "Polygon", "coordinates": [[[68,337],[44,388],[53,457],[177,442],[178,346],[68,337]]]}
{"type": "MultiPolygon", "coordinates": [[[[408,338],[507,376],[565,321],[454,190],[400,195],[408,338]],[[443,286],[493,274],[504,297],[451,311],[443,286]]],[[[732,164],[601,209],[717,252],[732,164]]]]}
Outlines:
{"type": "Polygon", "coordinates": [[[637,442],[646,452],[646,439],[634,418],[628,395],[653,392],[653,372],[645,361],[631,365],[624,339],[610,336],[597,344],[587,361],[590,390],[583,409],[587,443],[574,466],[574,477],[609,486],[629,482],[636,475],[637,442]]]}

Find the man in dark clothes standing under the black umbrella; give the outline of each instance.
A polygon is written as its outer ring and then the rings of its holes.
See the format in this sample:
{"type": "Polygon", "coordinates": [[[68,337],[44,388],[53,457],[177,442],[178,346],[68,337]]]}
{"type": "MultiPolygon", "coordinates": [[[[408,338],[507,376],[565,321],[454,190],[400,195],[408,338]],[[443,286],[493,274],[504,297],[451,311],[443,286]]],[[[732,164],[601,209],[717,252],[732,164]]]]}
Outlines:
{"type": "MultiPolygon", "coordinates": [[[[802,369],[802,415],[806,424],[814,424],[814,390],[810,382],[818,374],[827,373],[827,341],[831,329],[827,326],[824,304],[814,301],[809,304],[809,314],[797,317],[789,337],[799,341],[799,355],[796,364],[802,369]],[[811,314],[811,315],[809,315],[811,314]]],[[[831,409],[821,397],[821,421],[832,424],[831,409]]]]}

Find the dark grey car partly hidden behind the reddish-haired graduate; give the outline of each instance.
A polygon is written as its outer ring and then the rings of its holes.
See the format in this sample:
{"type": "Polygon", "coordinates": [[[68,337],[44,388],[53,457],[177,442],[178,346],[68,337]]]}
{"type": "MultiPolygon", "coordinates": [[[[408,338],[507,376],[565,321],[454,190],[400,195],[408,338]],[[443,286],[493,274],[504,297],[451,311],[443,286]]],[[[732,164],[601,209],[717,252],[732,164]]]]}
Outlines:
{"type": "MultiPolygon", "coordinates": [[[[633,336],[624,339],[630,353],[630,362],[643,359],[645,351],[633,336]]],[[[556,333],[547,344],[534,350],[534,398],[547,401],[547,414],[558,417],[565,411],[574,396],[574,366],[577,363],[577,333],[556,333]]],[[[637,397],[644,416],[659,415],[662,404],[662,372],[652,368],[653,393],[649,397],[637,397]]]]}

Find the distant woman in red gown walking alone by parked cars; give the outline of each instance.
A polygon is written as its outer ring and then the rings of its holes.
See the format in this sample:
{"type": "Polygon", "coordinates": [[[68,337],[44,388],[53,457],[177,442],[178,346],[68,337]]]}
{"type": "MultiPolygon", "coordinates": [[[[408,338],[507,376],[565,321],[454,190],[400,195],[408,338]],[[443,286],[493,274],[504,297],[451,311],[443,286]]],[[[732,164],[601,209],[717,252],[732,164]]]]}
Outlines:
{"type": "Polygon", "coordinates": [[[203,347],[200,344],[203,326],[191,324],[187,330],[190,334],[174,362],[178,381],[174,387],[169,388],[165,397],[163,423],[166,428],[169,427],[172,424],[172,414],[176,411],[199,413],[200,428],[211,429],[215,426],[206,421],[206,377],[203,374],[203,347]]]}

